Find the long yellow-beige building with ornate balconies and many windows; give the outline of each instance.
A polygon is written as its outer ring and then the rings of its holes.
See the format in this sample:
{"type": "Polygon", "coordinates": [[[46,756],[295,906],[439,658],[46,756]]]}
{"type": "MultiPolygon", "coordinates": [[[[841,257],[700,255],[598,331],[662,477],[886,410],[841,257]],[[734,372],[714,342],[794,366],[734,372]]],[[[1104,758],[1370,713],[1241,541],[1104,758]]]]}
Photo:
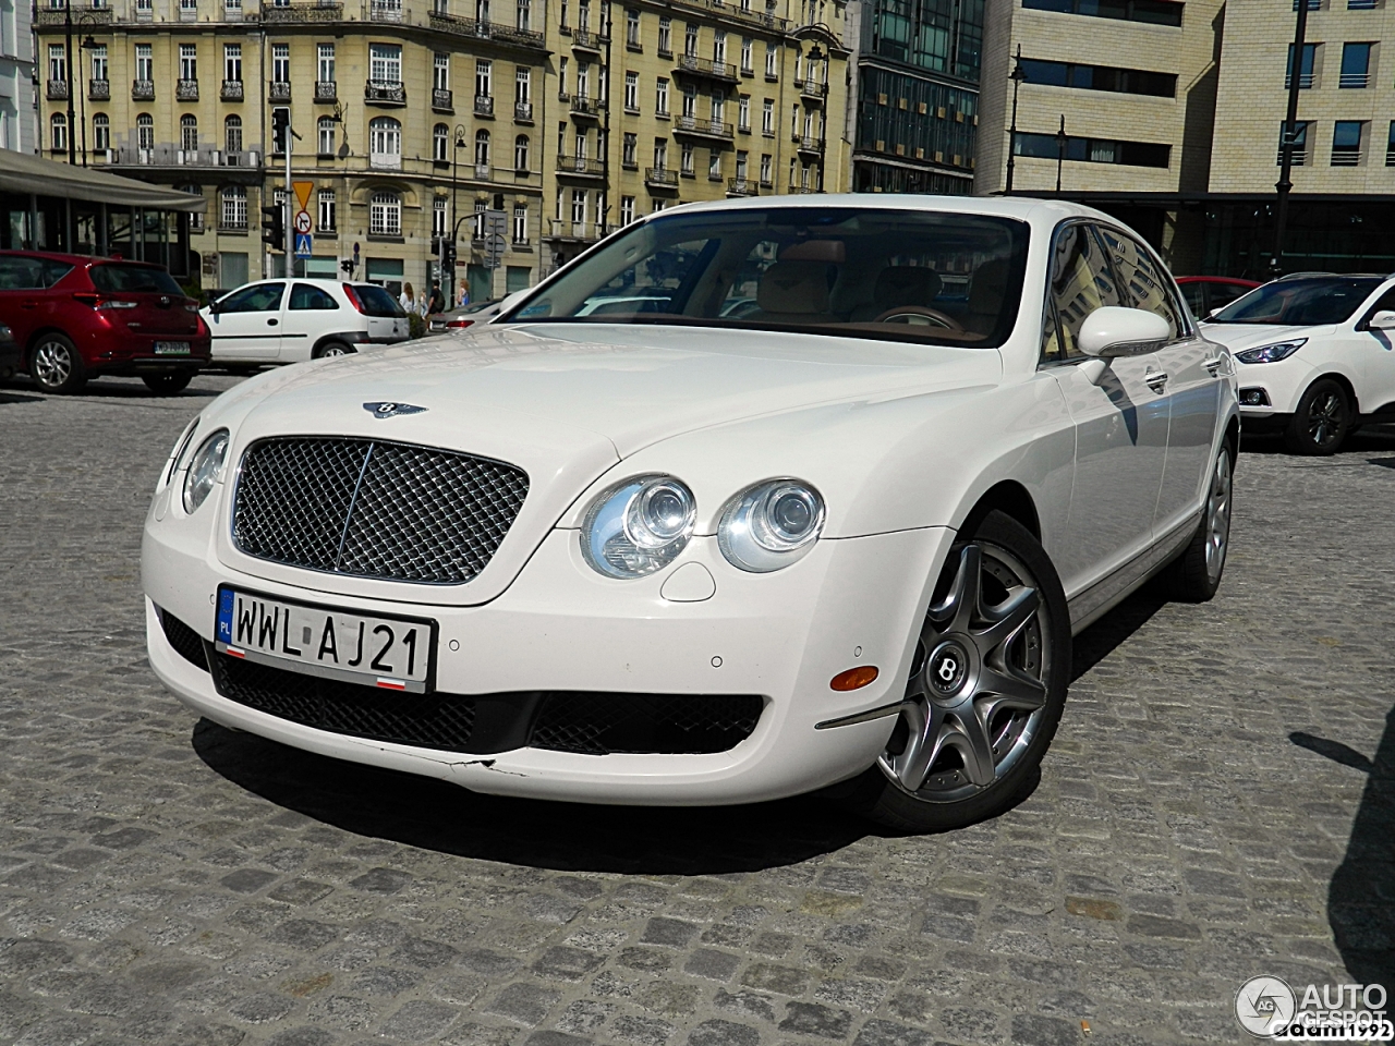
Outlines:
{"type": "Polygon", "coordinates": [[[73,135],[78,162],[204,194],[188,243],[205,287],[285,272],[262,243],[286,187],[278,109],[297,135],[292,181],[310,183],[299,272],[465,282],[476,300],[638,215],[834,191],[847,166],[829,137],[841,3],[89,0],[74,3],[70,68],[64,0],[42,1],[45,152],[67,159],[73,135]],[[505,216],[502,254],[487,255],[480,212],[505,216]]]}

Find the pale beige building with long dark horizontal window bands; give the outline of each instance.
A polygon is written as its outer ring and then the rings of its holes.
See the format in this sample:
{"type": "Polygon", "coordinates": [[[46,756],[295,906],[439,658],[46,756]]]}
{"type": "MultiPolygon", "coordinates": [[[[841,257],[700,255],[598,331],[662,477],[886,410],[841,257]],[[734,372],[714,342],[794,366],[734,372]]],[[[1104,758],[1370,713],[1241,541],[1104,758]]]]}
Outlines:
{"type": "Polygon", "coordinates": [[[975,194],[1007,191],[1011,159],[1013,192],[1056,192],[1059,176],[1063,194],[1113,198],[1165,252],[1183,248],[1189,215],[1124,198],[1207,190],[1222,11],[1221,0],[990,0],[975,194]]]}

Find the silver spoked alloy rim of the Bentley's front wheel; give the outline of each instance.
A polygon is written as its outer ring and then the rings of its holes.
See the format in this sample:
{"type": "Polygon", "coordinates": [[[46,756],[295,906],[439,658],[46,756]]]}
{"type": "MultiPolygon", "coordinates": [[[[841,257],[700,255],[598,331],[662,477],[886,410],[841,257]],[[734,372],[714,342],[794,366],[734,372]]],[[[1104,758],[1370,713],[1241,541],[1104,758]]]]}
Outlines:
{"type": "Polygon", "coordinates": [[[958,802],[1002,778],[1046,704],[1049,629],[1028,568],[996,545],[965,545],[926,614],[882,771],[929,802],[958,802]]]}

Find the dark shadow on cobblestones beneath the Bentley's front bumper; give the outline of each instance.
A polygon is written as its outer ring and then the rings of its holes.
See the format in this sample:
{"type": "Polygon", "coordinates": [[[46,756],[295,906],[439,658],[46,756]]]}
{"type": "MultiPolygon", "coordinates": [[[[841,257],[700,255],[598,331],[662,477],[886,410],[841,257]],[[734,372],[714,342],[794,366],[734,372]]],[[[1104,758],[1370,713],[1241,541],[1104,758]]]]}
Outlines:
{"type": "Polygon", "coordinates": [[[199,720],[193,743],[233,784],[345,831],[558,872],[757,872],[875,834],[873,826],[812,798],[707,808],[511,799],[317,756],[209,720],[199,720]]]}

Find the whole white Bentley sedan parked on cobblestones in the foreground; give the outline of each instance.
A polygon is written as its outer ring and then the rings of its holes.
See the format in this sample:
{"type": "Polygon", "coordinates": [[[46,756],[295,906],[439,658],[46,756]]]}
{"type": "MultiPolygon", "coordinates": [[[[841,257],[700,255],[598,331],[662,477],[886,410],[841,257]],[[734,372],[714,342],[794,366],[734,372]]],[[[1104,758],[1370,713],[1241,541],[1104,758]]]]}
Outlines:
{"type": "Polygon", "coordinates": [[[1034,785],[1073,632],[1215,593],[1233,375],[1094,211],[678,208],[501,322],[215,400],[146,520],[151,664],[481,792],[967,824],[1034,785]]]}

